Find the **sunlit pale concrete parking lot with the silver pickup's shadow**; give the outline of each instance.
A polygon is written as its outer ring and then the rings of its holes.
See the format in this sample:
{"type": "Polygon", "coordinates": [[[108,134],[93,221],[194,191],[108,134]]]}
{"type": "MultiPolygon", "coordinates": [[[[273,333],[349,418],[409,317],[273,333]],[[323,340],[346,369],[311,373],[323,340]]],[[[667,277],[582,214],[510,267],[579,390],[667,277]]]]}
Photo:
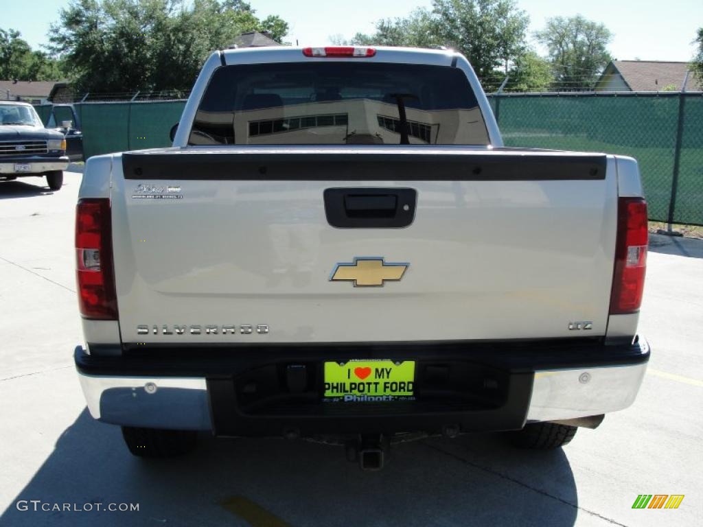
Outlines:
{"type": "Polygon", "coordinates": [[[143,461],[93,422],[72,365],[81,177],[67,172],[57,193],[43,178],[0,183],[1,526],[703,525],[703,240],[652,237],[638,399],[563,450],[432,438],[367,473],[328,445],[203,435],[194,455],[143,461]],[[632,509],[639,494],[685,498],[632,509]],[[34,512],[30,500],[139,509],[34,512]]]}

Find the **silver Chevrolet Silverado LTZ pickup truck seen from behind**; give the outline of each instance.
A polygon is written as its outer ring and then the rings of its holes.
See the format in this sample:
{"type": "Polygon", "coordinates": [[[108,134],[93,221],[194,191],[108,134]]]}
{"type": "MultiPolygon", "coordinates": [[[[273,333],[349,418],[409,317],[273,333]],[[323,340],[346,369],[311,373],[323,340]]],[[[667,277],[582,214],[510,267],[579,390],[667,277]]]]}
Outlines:
{"type": "Polygon", "coordinates": [[[650,355],[636,161],[503,148],[452,51],[213,53],[172,148],[87,162],[76,252],[79,379],[135,455],[198,431],[365,469],[411,432],[554,448],[650,355]]]}

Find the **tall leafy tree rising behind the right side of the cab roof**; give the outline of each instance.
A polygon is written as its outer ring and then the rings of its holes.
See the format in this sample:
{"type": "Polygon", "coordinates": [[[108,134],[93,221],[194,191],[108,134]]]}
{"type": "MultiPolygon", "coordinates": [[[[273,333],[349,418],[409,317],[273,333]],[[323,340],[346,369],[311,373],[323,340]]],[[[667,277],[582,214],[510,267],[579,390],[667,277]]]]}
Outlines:
{"type": "Polygon", "coordinates": [[[468,58],[486,89],[527,49],[529,16],[515,0],[434,0],[434,13],[441,41],[468,58]]]}

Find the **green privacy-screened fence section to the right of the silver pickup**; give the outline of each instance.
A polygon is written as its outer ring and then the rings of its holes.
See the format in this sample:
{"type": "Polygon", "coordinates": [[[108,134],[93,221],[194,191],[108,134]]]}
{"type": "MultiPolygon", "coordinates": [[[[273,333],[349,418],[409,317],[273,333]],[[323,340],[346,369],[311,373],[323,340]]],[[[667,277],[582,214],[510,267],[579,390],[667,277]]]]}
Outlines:
{"type": "Polygon", "coordinates": [[[703,225],[701,93],[504,95],[490,102],[506,146],[635,157],[650,219],[703,225]]]}

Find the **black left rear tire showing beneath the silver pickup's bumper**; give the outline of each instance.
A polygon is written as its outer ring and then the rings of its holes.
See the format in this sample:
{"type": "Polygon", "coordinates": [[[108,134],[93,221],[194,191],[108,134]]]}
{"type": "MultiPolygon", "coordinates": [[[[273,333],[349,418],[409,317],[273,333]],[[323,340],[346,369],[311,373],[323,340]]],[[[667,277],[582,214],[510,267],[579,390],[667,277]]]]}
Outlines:
{"type": "Polygon", "coordinates": [[[138,457],[174,457],[195,450],[198,432],[194,430],[160,430],[122,427],[122,437],[129,452],[138,457]]]}

